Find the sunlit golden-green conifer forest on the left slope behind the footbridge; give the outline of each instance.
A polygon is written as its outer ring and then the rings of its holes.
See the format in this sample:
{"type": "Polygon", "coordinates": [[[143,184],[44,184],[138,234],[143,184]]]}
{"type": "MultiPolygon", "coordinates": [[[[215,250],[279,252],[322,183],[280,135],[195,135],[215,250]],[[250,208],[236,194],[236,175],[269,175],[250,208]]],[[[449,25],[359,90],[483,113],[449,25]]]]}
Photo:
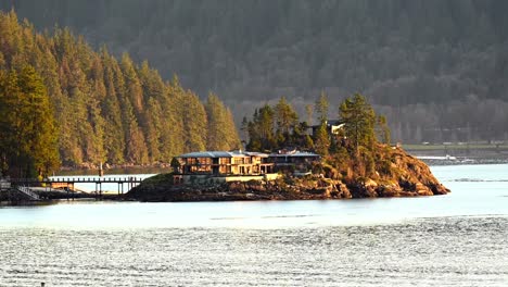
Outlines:
{"type": "Polygon", "coordinates": [[[0,164],[3,174],[47,174],[60,163],[168,163],[187,151],[240,146],[232,114],[147,61],[94,51],[67,28],[36,33],[0,13],[0,164]]]}

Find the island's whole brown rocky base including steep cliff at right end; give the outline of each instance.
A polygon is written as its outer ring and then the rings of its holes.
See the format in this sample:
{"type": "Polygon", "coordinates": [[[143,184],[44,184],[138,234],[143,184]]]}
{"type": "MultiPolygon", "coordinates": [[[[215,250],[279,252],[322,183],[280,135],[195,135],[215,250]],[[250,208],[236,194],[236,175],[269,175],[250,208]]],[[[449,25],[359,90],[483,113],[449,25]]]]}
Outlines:
{"type": "Polygon", "coordinates": [[[282,176],[270,182],[198,186],[174,185],[170,175],[157,175],[130,190],[126,198],[141,201],[300,200],[414,197],[449,192],[422,161],[398,148],[386,152],[391,173],[376,173],[373,178],[354,175],[348,178],[330,178],[327,174],[319,174],[297,178],[282,176]]]}

